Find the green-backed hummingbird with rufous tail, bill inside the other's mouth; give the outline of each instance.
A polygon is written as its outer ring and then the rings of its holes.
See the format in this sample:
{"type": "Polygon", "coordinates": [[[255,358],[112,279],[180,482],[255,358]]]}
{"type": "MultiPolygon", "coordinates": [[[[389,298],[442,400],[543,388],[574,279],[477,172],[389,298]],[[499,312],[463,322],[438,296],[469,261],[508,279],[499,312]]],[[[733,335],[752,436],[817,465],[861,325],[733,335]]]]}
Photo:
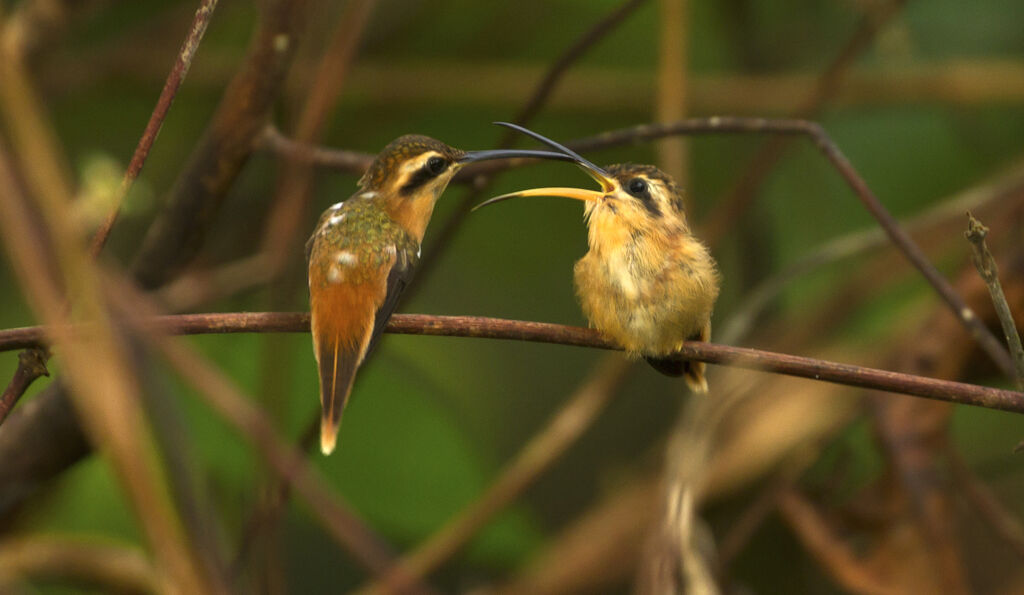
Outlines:
{"type": "Polygon", "coordinates": [[[401,136],[377,156],[357,193],[321,215],[306,257],[325,455],[334,451],[355,371],[412,279],[437,199],[466,164],[514,157],[565,159],[543,151],[466,153],[427,136],[401,136]]]}

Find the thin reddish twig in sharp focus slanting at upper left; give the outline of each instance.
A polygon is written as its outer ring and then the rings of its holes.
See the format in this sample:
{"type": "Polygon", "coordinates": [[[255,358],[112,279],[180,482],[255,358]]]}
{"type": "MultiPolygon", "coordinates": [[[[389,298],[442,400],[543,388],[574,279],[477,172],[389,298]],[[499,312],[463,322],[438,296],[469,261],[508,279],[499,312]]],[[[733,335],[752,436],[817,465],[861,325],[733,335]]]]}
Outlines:
{"type": "Polygon", "coordinates": [[[99,254],[103,249],[103,245],[106,244],[106,239],[111,236],[111,229],[114,227],[114,223],[118,219],[118,213],[121,211],[121,203],[124,202],[128,190],[131,189],[135,179],[138,178],[139,172],[142,171],[142,166],[145,165],[145,159],[150,156],[150,150],[153,148],[153,143],[157,140],[157,135],[160,134],[160,128],[164,125],[164,118],[167,117],[167,112],[171,109],[171,103],[174,102],[174,96],[177,95],[181,82],[184,80],[185,75],[188,74],[193,57],[196,55],[196,50],[203,39],[203,34],[206,33],[206,26],[210,24],[210,17],[213,15],[213,10],[216,7],[217,0],[202,0],[199,8],[196,9],[196,16],[193,18],[191,27],[188,28],[188,35],[185,36],[185,40],[181,44],[181,49],[178,51],[178,56],[174,60],[174,66],[171,67],[171,72],[167,75],[164,88],[160,92],[160,97],[157,98],[157,105],[153,109],[150,121],[145,124],[142,137],[138,139],[138,144],[131,156],[131,161],[128,162],[128,169],[125,170],[121,186],[118,188],[117,195],[114,196],[111,212],[92,237],[92,244],[89,250],[93,256],[99,254]]]}

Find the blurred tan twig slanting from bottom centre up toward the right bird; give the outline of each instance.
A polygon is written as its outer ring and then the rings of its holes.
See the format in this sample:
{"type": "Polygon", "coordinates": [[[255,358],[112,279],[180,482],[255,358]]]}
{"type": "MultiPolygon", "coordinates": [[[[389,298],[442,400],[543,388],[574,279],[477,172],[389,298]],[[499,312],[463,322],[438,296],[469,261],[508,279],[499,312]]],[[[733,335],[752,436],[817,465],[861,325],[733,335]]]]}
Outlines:
{"type": "Polygon", "coordinates": [[[596,374],[526,442],[480,498],[399,560],[380,582],[360,592],[401,592],[403,581],[426,577],[455,555],[580,438],[604,411],[630,369],[622,357],[602,359],[596,374]]]}

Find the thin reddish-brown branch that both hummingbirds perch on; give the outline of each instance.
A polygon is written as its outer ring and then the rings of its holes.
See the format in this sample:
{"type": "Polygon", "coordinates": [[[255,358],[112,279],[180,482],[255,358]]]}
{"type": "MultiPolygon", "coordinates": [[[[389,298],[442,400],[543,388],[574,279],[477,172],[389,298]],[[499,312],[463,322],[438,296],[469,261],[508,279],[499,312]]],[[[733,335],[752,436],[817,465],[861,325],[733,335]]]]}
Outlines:
{"type": "MultiPolygon", "coordinates": [[[[162,332],[180,335],[305,333],[309,331],[309,314],[306,312],[176,314],[155,316],[146,321],[146,324],[162,332]]],[[[618,349],[593,329],[483,316],[394,314],[388,322],[386,330],[389,333],[399,335],[511,339],[598,349],[618,349]]],[[[43,327],[0,331],[0,351],[17,349],[27,344],[40,342],[44,340],[45,332],[43,327]]],[[[680,349],[679,355],[684,359],[707,362],[719,366],[733,366],[958,405],[973,405],[986,409],[1024,413],[1024,393],[976,384],[938,380],[801,355],[700,341],[687,341],[680,349]]]]}

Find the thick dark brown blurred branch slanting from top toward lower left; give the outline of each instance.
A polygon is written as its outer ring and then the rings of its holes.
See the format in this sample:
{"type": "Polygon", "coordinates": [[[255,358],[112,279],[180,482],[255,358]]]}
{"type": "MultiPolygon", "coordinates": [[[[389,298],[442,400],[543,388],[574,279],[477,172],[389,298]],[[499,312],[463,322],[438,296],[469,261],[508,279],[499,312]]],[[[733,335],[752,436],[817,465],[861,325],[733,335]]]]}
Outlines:
{"type": "MultiPolygon", "coordinates": [[[[199,250],[280,94],[301,38],[308,2],[268,0],[261,3],[261,8],[260,25],[245,62],[225,90],[209,128],[171,190],[165,211],[151,227],[138,253],[134,274],[143,287],[157,287],[173,278],[199,250]]],[[[0,60],[3,66],[9,65],[0,60]]],[[[8,78],[2,78],[0,91],[11,89],[8,78]]],[[[24,151],[19,154],[31,157],[24,151]]],[[[44,179],[55,183],[57,177],[44,179]]],[[[40,484],[89,454],[91,448],[68,402],[62,386],[53,383],[37,395],[34,407],[15,411],[0,426],[0,452],[10,461],[0,466],[0,484],[12,485],[0,498],[0,514],[9,512],[40,484]],[[32,449],[26,445],[37,440],[27,440],[27,436],[52,439],[46,448],[32,449]]]]}

